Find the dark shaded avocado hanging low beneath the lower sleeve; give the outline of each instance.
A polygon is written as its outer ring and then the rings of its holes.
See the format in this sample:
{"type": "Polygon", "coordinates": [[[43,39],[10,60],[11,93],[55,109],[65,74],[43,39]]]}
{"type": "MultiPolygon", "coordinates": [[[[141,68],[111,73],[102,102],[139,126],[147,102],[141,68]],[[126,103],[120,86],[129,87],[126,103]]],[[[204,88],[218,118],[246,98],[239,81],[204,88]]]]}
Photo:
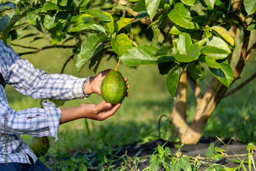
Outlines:
{"type": "Polygon", "coordinates": [[[50,143],[48,137],[32,137],[29,141],[29,147],[36,157],[45,156],[48,152],[50,143]]]}

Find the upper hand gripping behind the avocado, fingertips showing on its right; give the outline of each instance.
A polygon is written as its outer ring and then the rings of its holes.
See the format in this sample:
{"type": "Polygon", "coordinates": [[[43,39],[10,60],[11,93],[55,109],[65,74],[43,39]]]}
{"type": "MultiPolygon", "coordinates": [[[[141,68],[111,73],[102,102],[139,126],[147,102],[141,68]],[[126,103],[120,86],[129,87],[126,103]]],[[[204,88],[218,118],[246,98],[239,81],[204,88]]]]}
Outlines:
{"type": "MultiPolygon", "coordinates": [[[[104,77],[106,76],[106,74],[108,74],[110,71],[111,71],[110,69],[105,70],[105,71],[100,72],[97,76],[91,77],[87,81],[86,86],[84,86],[84,92],[86,94],[97,93],[98,95],[101,95],[100,94],[101,82],[104,79],[104,77]]],[[[124,79],[125,82],[127,81],[126,77],[124,77],[123,79],[124,79]]],[[[127,89],[130,88],[129,84],[127,84],[126,86],[127,86],[127,89]]],[[[126,93],[126,96],[129,96],[129,95],[130,95],[129,93],[126,93]]]]}

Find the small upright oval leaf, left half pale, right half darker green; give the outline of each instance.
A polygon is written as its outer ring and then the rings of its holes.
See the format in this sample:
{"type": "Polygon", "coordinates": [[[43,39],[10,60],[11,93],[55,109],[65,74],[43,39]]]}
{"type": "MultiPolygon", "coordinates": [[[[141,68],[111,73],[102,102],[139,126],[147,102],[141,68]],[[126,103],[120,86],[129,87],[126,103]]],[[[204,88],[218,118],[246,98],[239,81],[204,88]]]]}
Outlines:
{"type": "Polygon", "coordinates": [[[190,46],[192,45],[191,37],[188,33],[181,33],[177,41],[177,48],[181,55],[188,55],[190,46]]]}

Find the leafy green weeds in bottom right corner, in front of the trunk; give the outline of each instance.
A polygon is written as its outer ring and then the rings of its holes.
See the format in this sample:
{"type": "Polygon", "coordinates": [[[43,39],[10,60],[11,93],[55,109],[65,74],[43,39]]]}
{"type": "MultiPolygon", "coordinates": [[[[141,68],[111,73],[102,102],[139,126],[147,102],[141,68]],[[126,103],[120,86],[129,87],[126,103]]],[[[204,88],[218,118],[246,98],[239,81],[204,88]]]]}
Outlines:
{"type": "MultiPolygon", "coordinates": [[[[218,138],[218,137],[217,137],[218,138]]],[[[218,138],[219,139],[219,138],[218,138]]],[[[225,146],[227,146],[221,139],[219,139],[225,146]]],[[[214,161],[219,161],[221,158],[224,157],[233,157],[225,154],[225,150],[221,149],[219,147],[215,147],[215,143],[212,142],[210,143],[208,147],[208,151],[205,153],[206,157],[192,157],[192,156],[183,156],[181,154],[180,149],[182,148],[184,144],[177,145],[178,151],[176,153],[171,153],[169,147],[164,147],[165,144],[163,145],[158,145],[156,148],[155,152],[151,156],[150,160],[150,167],[147,168],[147,170],[155,171],[158,170],[159,168],[165,169],[165,170],[175,170],[175,171],[180,171],[182,170],[199,170],[199,168],[202,165],[206,165],[206,170],[222,170],[222,171],[232,171],[232,170],[241,170],[241,168],[245,171],[247,171],[245,167],[245,163],[248,163],[249,166],[249,171],[251,171],[251,165],[253,165],[254,170],[255,170],[255,163],[253,159],[253,152],[251,150],[254,149],[253,144],[248,144],[248,161],[245,161],[245,159],[241,160],[239,156],[235,153],[230,151],[234,154],[234,156],[238,157],[239,160],[234,160],[234,159],[229,159],[231,161],[237,162],[240,164],[240,167],[226,167],[221,164],[217,163],[212,163],[210,162],[211,159],[214,161]]],[[[247,149],[247,150],[248,150],[247,149]]],[[[242,156],[242,155],[241,155],[242,156]]]]}

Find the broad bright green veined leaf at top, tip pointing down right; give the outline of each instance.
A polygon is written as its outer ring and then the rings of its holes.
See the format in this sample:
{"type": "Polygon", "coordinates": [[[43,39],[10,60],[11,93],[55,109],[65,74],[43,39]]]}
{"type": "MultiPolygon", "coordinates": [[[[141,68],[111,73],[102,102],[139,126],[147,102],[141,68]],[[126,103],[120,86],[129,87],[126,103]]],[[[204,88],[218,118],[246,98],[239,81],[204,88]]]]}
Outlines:
{"type": "Polygon", "coordinates": [[[189,22],[193,19],[190,16],[190,12],[181,3],[175,4],[174,9],[168,10],[168,17],[170,20],[172,20],[172,22],[183,28],[195,29],[194,26],[189,24],[189,22]]]}

